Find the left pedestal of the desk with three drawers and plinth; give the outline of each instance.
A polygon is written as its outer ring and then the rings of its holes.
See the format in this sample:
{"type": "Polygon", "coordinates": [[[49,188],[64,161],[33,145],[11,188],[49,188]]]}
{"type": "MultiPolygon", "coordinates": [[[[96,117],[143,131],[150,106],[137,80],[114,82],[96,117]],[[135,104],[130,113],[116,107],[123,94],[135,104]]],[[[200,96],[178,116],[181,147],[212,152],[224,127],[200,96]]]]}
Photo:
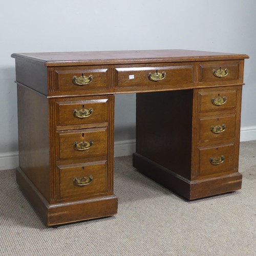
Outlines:
{"type": "Polygon", "coordinates": [[[117,213],[114,96],[51,98],[18,84],[17,183],[46,225],[117,213]]]}

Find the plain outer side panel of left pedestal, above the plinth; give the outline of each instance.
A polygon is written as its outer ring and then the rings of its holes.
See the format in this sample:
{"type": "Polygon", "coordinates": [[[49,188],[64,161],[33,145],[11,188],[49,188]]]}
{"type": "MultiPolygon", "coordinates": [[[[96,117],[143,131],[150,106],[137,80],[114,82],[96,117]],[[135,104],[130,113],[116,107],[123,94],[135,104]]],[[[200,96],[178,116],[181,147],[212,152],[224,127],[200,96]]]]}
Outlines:
{"type": "Polygon", "coordinates": [[[19,167],[50,201],[48,99],[17,87],[19,167]]]}

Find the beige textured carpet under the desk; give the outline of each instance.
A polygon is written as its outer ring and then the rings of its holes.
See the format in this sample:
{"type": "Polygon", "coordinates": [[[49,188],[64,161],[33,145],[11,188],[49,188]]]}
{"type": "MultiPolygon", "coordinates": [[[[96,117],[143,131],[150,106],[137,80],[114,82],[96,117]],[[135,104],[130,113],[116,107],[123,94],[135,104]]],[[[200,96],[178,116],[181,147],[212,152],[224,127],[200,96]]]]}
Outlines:
{"type": "Polygon", "coordinates": [[[0,255],[256,255],[256,141],[240,148],[242,190],[187,202],[115,159],[118,215],[48,228],[0,171],[0,255]]]}

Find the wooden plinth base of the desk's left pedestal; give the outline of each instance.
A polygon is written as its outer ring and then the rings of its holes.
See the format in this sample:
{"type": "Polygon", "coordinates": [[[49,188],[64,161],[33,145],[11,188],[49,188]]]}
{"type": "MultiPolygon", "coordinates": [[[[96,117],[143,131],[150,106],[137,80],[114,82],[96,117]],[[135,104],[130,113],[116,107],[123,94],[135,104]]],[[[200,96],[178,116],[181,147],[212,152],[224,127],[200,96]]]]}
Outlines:
{"type": "Polygon", "coordinates": [[[20,190],[22,190],[38,215],[48,226],[109,217],[117,214],[118,199],[115,195],[68,203],[49,204],[19,167],[16,168],[16,179],[20,190]]]}

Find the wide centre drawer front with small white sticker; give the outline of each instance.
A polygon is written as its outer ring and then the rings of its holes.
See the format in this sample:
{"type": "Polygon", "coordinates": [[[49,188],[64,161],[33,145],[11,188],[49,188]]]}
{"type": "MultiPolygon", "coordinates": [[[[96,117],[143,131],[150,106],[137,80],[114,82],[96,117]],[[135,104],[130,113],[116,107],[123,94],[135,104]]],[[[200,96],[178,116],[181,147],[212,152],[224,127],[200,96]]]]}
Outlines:
{"type": "Polygon", "coordinates": [[[192,84],[194,66],[163,66],[116,68],[118,79],[115,87],[172,86],[192,84]]]}

